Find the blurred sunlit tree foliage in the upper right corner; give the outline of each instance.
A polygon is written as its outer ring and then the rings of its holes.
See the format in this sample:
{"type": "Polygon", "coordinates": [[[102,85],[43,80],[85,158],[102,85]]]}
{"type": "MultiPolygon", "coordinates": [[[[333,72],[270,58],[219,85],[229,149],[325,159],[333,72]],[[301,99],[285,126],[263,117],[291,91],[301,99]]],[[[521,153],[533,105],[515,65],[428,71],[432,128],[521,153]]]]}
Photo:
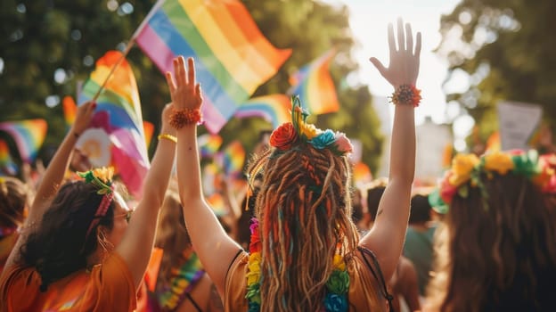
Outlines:
{"type": "Polygon", "coordinates": [[[470,76],[469,88],[448,100],[469,111],[483,140],[497,128],[500,101],[541,104],[545,121],[556,124],[554,10],[552,0],[462,0],[442,17],[437,53],[450,75],[470,76]]]}

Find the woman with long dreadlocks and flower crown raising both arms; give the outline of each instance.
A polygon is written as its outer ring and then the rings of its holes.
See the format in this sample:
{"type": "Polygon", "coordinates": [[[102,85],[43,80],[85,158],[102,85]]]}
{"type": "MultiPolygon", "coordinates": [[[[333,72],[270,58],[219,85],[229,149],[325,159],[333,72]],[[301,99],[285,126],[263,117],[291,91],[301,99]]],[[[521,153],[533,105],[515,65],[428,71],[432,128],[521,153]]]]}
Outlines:
{"type": "Polygon", "coordinates": [[[200,86],[192,59],[174,62],[168,85],[177,129],[178,185],[184,218],[203,267],[217,285],[226,311],[371,311],[385,307],[384,280],[400,256],[415,160],[413,109],[421,36],[413,46],[409,24],[388,28],[390,64],[371,62],[394,86],[396,116],[389,184],[376,224],[359,239],[351,221],[346,135],[307,124],[307,112],[293,100],[292,121],[274,130],[272,148],[254,161],[249,177],[262,176],[251,226],[249,254],[218,224],[203,199],[196,124],[200,86]],[[396,46],[398,45],[398,47],[396,46]],[[376,253],[376,257],[374,256],[376,253]]]}

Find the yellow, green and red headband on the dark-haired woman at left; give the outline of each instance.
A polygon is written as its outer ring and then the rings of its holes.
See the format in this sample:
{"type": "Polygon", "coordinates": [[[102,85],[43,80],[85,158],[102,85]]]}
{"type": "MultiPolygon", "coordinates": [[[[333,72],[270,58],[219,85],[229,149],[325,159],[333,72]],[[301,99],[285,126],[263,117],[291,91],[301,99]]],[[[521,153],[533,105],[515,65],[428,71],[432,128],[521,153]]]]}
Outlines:
{"type": "Polygon", "coordinates": [[[85,182],[97,188],[96,193],[102,195],[102,201],[99,207],[94,212],[94,218],[91,225],[88,227],[85,237],[88,237],[93,230],[94,226],[98,225],[100,219],[106,215],[110,207],[110,203],[114,199],[114,188],[112,185],[112,176],[114,175],[114,168],[96,168],[86,172],[78,172],[79,177],[83,177],[85,182]]]}

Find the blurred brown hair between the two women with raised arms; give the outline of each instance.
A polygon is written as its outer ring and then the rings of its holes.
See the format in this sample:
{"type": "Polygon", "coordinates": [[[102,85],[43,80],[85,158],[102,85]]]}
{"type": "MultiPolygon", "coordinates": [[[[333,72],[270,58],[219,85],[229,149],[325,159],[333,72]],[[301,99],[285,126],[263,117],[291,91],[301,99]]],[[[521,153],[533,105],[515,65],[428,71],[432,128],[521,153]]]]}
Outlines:
{"type": "Polygon", "coordinates": [[[191,238],[185,227],[184,210],[179,195],[174,191],[168,191],[164,197],[154,244],[164,250],[157,288],[168,287],[172,269],[183,263],[187,251],[192,249],[191,238]]]}

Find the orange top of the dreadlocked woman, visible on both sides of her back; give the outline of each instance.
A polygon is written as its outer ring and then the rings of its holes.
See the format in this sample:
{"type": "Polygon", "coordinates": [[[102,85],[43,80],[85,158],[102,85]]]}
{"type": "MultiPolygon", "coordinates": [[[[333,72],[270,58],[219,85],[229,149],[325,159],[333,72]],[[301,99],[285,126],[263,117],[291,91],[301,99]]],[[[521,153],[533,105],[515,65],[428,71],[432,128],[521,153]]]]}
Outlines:
{"type": "MultiPolygon", "coordinates": [[[[360,252],[356,252],[354,265],[348,268],[349,273],[349,301],[350,311],[383,311],[386,300],[380,296],[379,283],[372,277],[371,270],[366,267],[360,252]]],[[[241,252],[233,261],[225,278],[225,311],[247,311],[248,302],[245,299],[249,254],[241,252]]]]}

